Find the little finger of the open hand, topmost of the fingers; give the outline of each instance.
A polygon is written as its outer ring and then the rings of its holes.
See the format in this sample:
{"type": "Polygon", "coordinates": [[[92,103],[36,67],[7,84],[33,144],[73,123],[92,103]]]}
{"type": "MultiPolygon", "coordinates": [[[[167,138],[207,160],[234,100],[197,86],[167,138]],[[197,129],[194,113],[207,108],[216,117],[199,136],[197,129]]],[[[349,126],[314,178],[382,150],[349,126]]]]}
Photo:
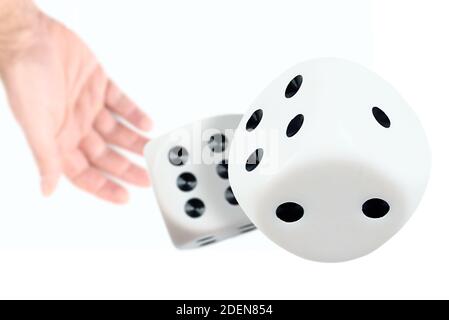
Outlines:
{"type": "Polygon", "coordinates": [[[151,129],[151,119],[131,99],[123,94],[112,81],[109,81],[106,89],[106,106],[136,128],[144,131],[151,129]]]}

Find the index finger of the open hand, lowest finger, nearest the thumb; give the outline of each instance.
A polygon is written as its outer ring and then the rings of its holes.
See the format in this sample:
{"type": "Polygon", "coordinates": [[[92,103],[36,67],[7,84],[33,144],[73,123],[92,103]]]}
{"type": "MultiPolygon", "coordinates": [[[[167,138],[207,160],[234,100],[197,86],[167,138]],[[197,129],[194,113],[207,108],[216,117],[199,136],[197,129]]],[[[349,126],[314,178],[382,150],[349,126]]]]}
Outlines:
{"type": "Polygon", "coordinates": [[[77,187],[117,204],[128,201],[128,192],[119,184],[109,180],[98,169],[92,167],[79,150],[64,157],[64,172],[77,187]]]}

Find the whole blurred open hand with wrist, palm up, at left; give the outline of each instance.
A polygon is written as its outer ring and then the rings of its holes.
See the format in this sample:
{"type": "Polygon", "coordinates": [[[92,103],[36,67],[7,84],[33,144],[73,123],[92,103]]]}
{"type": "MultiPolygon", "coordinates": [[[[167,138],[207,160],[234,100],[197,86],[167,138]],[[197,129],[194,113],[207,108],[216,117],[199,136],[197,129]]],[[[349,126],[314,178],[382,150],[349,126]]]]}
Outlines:
{"type": "Polygon", "coordinates": [[[0,75],[44,195],[53,193],[61,176],[118,204],[128,192],[117,179],[149,185],[146,171],[115,150],[142,154],[148,139],[136,129],[150,130],[150,118],[81,39],[31,1],[0,0],[0,75]]]}

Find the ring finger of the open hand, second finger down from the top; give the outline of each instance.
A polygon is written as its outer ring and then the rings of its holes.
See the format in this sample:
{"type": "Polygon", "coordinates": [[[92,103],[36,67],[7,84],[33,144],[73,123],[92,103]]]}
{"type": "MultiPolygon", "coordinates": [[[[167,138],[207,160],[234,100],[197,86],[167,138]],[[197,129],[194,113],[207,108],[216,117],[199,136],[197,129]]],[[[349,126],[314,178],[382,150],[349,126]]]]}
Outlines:
{"type": "Polygon", "coordinates": [[[110,144],[117,145],[137,154],[143,154],[143,149],[149,141],[144,136],[119,123],[112,114],[103,109],[94,121],[94,128],[110,144]]]}

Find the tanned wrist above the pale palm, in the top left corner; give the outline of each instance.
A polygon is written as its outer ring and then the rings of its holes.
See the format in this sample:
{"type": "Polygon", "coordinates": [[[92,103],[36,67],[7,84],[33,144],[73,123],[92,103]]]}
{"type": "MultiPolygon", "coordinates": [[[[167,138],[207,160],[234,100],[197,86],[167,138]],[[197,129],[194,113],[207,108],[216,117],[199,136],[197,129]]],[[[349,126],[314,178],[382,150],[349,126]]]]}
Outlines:
{"type": "Polygon", "coordinates": [[[37,38],[42,13],[30,0],[0,0],[0,71],[37,38]]]}

